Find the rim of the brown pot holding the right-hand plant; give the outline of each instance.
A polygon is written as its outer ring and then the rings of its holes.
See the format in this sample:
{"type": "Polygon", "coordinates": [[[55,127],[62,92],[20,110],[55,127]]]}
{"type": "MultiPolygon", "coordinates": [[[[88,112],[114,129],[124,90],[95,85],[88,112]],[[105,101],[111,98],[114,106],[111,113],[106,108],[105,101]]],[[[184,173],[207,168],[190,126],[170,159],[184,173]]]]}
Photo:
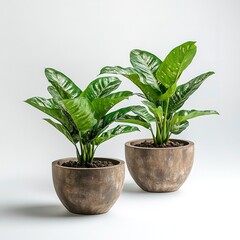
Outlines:
{"type": "Polygon", "coordinates": [[[183,146],[179,146],[179,147],[166,147],[166,148],[148,148],[148,147],[138,147],[138,146],[134,146],[132,143],[134,142],[139,142],[139,141],[145,141],[145,140],[153,140],[152,138],[139,138],[139,139],[134,139],[131,141],[128,141],[125,143],[125,147],[130,147],[130,148],[137,148],[137,149],[143,149],[143,150],[151,150],[151,151],[167,151],[167,150],[172,150],[172,149],[179,149],[179,148],[188,148],[190,146],[194,146],[194,142],[189,141],[189,140],[185,140],[185,139],[176,139],[176,138],[170,138],[170,140],[174,140],[174,141],[183,141],[183,142],[187,142],[188,144],[183,145],[183,146]]]}

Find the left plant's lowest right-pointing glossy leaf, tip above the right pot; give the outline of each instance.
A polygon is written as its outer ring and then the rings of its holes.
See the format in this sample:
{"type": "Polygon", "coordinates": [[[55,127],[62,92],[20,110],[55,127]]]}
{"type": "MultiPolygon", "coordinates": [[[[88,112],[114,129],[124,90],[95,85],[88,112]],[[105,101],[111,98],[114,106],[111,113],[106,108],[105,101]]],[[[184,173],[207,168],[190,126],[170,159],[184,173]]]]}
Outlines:
{"type": "Polygon", "coordinates": [[[102,133],[101,136],[97,137],[94,140],[94,143],[96,145],[99,145],[119,134],[130,133],[130,132],[135,132],[135,131],[139,131],[139,129],[134,126],[118,125],[117,127],[109,129],[108,131],[102,133]]]}

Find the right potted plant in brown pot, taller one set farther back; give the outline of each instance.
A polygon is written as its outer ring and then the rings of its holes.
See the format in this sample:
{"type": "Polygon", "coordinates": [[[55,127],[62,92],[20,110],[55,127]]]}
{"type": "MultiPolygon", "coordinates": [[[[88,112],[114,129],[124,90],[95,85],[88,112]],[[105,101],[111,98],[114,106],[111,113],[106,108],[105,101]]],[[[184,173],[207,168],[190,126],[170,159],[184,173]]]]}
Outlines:
{"type": "Polygon", "coordinates": [[[191,141],[171,139],[172,134],[185,130],[191,118],[218,114],[213,110],[180,110],[185,101],[213,72],[201,74],[187,83],[177,85],[182,72],[196,54],[195,42],[174,48],[161,61],[154,54],[132,50],[132,67],[107,66],[102,74],[120,74],[131,80],[140,90],[138,95],[149,114],[123,116],[122,122],[142,125],[150,130],[151,139],[139,139],[125,144],[126,162],[130,174],[145,191],[176,191],[188,177],[194,156],[191,141]],[[155,123],[155,133],[151,122],[155,123]]]}

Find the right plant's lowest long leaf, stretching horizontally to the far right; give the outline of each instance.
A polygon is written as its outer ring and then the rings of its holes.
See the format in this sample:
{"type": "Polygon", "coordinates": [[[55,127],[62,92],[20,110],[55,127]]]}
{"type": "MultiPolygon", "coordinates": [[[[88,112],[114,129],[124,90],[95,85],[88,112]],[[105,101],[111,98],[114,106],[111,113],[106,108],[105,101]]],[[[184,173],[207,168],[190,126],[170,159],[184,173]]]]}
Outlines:
{"type": "Polygon", "coordinates": [[[216,112],[214,110],[205,110],[205,111],[181,110],[174,114],[172,121],[171,121],[171,125],[183,123],[191,118],[204,116],[204,115],[211,115],[211,114],[218,114],[218,112],[216,112]]]}

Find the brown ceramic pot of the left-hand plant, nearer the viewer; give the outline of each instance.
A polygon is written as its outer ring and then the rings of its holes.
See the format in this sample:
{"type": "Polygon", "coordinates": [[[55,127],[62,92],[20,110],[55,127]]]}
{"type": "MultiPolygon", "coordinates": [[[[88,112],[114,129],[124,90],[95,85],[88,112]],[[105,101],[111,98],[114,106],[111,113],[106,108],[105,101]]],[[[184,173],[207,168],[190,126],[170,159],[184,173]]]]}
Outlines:
{"type": "Polygon", "coordinates": [[[74,158],[52,163],[53,183],[62,204],[72,213],[106,213],[118,199],[124,183],[124,161],[108,160],[114,166],[100,168],[70,168],[61,164],[74,158]]]}

